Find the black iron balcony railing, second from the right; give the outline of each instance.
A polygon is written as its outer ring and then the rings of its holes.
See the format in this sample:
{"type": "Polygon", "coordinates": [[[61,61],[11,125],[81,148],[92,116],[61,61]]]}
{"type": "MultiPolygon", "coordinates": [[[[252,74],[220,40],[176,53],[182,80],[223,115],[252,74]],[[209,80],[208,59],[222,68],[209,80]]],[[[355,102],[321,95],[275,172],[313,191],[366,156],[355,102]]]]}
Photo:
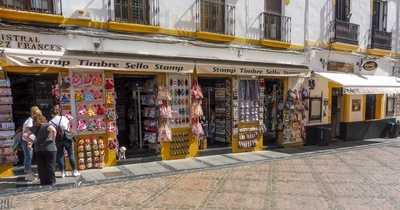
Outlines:
{"type": "Polygon", "coordinates": [[[358,45],[359,25],[336,20],[331,26],[331,42],[358,45]]]}

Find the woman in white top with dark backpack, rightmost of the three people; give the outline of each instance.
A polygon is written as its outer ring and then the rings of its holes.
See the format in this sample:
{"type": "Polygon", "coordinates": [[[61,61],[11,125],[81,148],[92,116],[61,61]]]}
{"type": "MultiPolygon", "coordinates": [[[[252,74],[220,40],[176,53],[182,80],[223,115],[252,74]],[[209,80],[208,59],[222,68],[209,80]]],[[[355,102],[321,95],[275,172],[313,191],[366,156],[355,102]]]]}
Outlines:
{"type": "Polygon", "coordinates": [[[58,105],[53,107],[53,119],[50,124],[57,130],[56,145],[57,145],[57,165],[61,171],[61,177],[66,176],[64,164],[64,150],[67,151],[69,163],[72,168],[72,176],[79,176],[80,173],[76,167],[75,153],[74,153],[74,140],[70,132],[70,120],[66,116],[61,115],[58,105]]]}

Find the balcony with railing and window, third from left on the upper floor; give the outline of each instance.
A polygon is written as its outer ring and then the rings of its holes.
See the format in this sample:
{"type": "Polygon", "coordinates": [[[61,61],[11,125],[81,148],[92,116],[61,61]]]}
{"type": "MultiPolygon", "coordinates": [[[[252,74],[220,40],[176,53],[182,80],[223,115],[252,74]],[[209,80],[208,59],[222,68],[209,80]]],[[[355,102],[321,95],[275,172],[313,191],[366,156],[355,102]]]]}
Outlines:
{"type": "Polygon", "coordinates": [[[196,30],[235,35],[235,6],[223,0],[196,0],[196,30]]]}

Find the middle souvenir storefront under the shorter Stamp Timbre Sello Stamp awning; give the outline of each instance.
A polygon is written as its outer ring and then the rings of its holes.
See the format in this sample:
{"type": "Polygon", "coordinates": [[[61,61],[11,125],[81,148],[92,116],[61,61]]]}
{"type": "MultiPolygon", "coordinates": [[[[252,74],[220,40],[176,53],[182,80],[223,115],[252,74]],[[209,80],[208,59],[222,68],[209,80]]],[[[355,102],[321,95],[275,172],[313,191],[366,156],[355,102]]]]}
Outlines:
{"type": "MultiPolygon", "coordinates": [[[[299,94],[303,91],[299,89],[303,87],[299,83],[303,81],[302,78],[309,76],[306,67],[198,64],[196,69],[203,90],[214,88],[220,92],[214,93],[215,98],[219,96],[219,100],[216,100],[219,105],[212,106],[209,105],[212,102],[207,101],[204,103],[205,113],[211,112],[214,116],[206,116],[205,119],[215,121],[209,123],[212,121],[207,120],[204,123],[205,130],[214,131],[215,139],[219,133],[231,137],[233,152],[261,150],[271,144],[302,145],[300,121],[303,124],[303,118],[297,117],[295,105],[300,105],[299,94]],[[231,90],[228,90],[229,86],[231,90]],[[229,125],[227,119],[233,119],[232,124],[229,125]],[[215,126],[209,129],[210,124],[215,126]]],[[[305,115],[304,107],[302,111],[304,113],[300,116],[305,115]]]]}

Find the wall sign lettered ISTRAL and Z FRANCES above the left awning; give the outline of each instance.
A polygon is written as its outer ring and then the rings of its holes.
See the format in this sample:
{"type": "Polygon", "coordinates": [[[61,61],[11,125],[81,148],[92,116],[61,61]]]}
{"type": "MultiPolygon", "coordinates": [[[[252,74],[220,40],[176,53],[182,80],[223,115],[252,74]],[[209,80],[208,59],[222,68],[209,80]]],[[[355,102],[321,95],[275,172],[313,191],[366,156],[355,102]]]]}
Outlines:
{"type": "Polygon", "coordinates": [[[0,31],[0,48],[14,48],[25,50],[62,51],[63,47],[55,43],[48,35],[20,31],[0,31]]]}

